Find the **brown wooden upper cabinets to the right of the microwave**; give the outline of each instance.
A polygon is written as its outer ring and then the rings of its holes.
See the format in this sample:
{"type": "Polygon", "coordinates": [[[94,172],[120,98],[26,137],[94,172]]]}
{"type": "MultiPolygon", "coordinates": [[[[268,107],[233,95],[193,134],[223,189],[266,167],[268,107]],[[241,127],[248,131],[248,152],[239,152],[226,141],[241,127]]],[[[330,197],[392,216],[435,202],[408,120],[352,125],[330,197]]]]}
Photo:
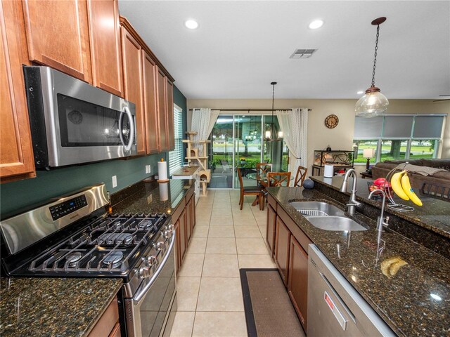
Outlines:
{"type": "Polygon", "coordinates": [[[136,104],[138,152],[150,154],[172,150],[175,145],[173,79],[122,16],[120,27],[124,94],[125,99],[136,104]]]}

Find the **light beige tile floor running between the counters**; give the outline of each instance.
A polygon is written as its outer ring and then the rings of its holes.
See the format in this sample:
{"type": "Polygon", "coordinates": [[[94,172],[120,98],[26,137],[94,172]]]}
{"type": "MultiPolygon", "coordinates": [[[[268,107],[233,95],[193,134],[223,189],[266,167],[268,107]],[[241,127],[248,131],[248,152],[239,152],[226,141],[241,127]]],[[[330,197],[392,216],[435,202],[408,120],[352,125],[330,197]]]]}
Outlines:
{"type": "Polygon", "coordinates": [[[207,190],[178,277],[172,337],[248,336],[239,268],[275,268],[265,243],[266,210],[238,190],[207,190]]]}

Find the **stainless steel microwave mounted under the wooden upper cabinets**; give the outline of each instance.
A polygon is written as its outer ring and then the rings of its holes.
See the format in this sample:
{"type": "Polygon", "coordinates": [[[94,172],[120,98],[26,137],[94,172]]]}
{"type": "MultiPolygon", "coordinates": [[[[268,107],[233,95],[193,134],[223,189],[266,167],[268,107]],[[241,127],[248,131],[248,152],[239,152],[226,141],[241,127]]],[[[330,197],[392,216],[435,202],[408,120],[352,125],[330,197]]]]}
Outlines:
{"type": "Polygon", "coordinates": [[[137,153],[134,103],[50,67],[23,70],[37,169],[137,153]]]}

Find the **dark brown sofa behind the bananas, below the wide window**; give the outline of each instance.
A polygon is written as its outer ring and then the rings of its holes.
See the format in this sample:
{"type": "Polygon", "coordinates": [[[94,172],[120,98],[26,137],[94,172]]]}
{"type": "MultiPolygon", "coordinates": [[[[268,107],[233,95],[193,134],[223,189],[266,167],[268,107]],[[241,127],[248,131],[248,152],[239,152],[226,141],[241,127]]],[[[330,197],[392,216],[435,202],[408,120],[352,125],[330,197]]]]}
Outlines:
{"type": "Polygon", "coordinates": [[[423,176],[420,173],[409,173],[411,187],[420,188],[424,182],[435,183],[450,187],[450,158],[449,159],[399,159],[381,161],[372,167],[372,177],[386,178],[387,173],[397,167],[401,163],[409,162],[411,165],[428,166],[434,169],[444,169],[434,173],[432,176],[423,176]]]}

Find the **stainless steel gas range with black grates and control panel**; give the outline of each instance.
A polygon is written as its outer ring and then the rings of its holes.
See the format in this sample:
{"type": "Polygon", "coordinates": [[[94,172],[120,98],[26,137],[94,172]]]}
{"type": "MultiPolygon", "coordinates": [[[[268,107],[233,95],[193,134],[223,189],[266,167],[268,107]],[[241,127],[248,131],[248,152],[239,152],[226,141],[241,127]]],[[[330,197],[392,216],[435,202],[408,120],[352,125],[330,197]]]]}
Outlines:
{"type": "Polygon", "coordinates": [[[108,205],[101,184],[2,220],[2,273],[120,277],[122,336],[167,335],[169,314],[176,309],[171,218],[109,215],[108,205]]]}

